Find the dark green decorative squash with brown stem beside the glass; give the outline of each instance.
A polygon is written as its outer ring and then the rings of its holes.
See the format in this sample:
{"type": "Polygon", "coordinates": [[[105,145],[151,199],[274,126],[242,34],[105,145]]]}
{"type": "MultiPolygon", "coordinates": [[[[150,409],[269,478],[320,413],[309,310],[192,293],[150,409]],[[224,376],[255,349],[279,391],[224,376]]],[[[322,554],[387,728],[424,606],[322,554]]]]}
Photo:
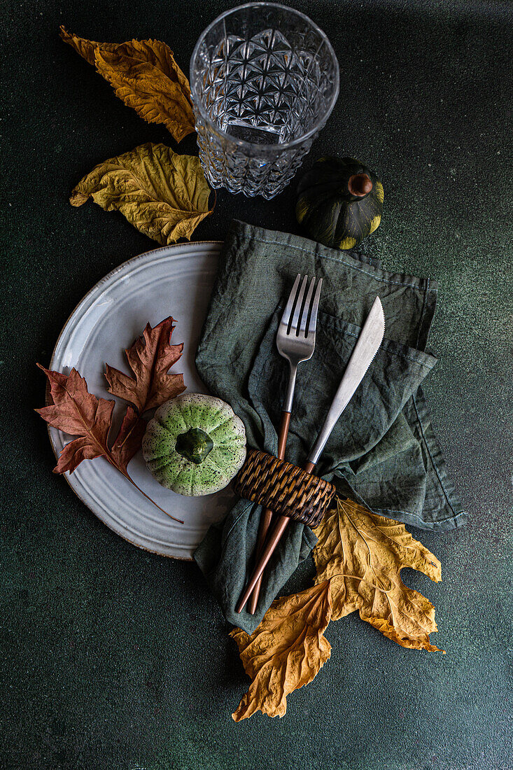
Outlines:
{"type": "Polygon", "coordinates": [[[297,221],[325,246],[357,246],[374,233],[382,211],[383,185],[354,158],[321,158],[297,188],[297,221]]]}

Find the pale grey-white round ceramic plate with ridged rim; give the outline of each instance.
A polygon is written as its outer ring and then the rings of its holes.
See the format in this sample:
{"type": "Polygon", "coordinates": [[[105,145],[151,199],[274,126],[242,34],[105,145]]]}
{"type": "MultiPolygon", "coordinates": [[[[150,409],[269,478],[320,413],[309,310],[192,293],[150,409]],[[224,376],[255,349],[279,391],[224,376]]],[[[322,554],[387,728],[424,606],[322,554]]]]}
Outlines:
{"type": "MultiPolygon", "coordinates": [[[[112,270],[75,308],[53,352],[50,368],[69,373],[72,367],[86,377],[89,391],[112,399],[103,377],[105,363],[130,373],[123,350],[152,326],[173,316],[173,343],[184,343],[183,356],[172,371],[183,372],[191,393],[206,393],[194,366],[196,346],[216,276],[221,243],[204,241],[166,246],[129,259],[112,270]]],[[[117,400],[117,399],[116,399],[117,400]]],[[[126,402],[119,401],[123,407],[126,402]]],[[[115,412],[118,422],[123,409],[115,412]]],[[[72,440],[55,428],[50,440],[58,455],[72,440]]],[[[165,511],[161,513],[126,478],[101,457],[84,460],[65,474],[72,490],[113,531],[134,545],[157,554],[191,559],[206,530],[226,514],[233,500],[229,490],[206,497],[183,497],[164,489],[146,470],[139,452],[129,474],[165,511]]]]}

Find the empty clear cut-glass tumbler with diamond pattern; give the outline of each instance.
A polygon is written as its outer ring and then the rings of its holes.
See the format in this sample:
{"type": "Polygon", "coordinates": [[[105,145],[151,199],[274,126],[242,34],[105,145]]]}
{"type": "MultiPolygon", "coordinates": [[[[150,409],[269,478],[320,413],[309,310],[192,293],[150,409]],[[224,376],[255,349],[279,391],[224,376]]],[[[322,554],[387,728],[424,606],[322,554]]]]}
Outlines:
{"type": "Polygon", "coordinates": [[[190,85],[210,184],[269,199],[290,182],[330,116],[339,69],[310,18],[254,2],[206,28],[191,58],[190,85]]]}

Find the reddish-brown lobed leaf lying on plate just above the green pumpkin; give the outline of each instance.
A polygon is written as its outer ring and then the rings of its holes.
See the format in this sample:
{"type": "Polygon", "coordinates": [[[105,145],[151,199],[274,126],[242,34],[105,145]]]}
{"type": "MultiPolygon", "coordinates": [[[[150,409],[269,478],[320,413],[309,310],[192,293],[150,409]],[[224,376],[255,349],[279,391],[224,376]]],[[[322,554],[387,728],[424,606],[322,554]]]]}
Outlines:
{"type": "Polygon", "coordinates": [[[173,323],[171,316],[153,328],[147,323],[142,336],[125,350],[135,379],[106,364],[107,390],[132,403],[139,414],[159,407],[185,390],[183,374],[168,374],[183,351],[183,344],[169,344],[175,328],[173,323]]]}

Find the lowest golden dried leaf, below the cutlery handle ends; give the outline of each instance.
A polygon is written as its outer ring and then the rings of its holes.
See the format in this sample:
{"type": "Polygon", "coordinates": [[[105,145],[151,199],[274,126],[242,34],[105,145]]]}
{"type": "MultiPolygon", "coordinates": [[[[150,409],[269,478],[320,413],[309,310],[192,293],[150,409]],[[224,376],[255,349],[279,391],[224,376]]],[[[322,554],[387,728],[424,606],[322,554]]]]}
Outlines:
{"type": "Polygon", "coordinates": [[[246,674],[249,690],[232,715],[235,721],[255,711],[283,717],[287,695],[307,685],[331,654],[324,631],[330,622],[330,582],[275,599],[251,636],[240,628],[231,632],[246,674]]]}

